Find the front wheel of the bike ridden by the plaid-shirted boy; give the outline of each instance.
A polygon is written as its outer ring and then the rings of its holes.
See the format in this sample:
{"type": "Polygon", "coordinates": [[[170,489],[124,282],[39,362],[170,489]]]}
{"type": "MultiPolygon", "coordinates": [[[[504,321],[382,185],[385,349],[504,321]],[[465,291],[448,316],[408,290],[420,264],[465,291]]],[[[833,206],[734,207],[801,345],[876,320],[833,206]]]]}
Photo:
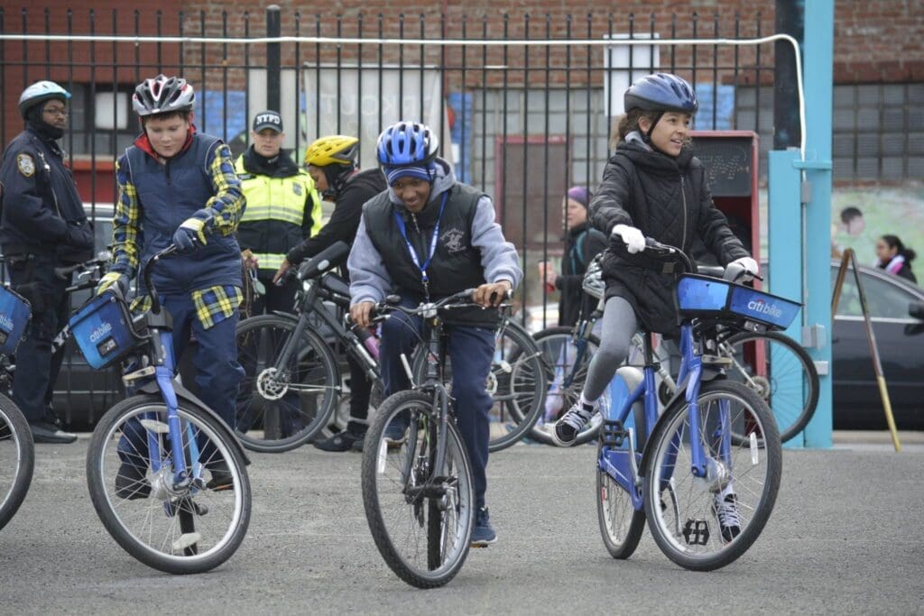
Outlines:
{"type": "Polygon", "coordinates": [[[93,430],[87,483],[96,513],[124,550],[169,574],[199,574],[229,559],[247,534],[250,483],[225,425],[183,402],[179,438],[193,478],[176,482],[166,413],[157,395],[110,409],[93,430]]]}

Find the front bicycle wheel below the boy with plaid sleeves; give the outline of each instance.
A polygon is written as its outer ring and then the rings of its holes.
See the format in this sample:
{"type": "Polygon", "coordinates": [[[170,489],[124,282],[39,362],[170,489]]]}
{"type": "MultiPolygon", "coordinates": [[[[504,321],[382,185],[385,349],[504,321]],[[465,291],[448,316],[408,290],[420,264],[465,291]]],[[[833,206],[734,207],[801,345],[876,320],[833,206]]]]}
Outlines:
{"type": "MultiPolygon", "coordinates": [[[[250,483],[244,458],[237,445],[231,442],[234,434],[224,422],[183,401],[180,401],[177,413],[184,436],[193,435],[193,438],[184,441],[188,464],[197,462],[191,459],[192,441],[203,448],[202,454],[206,452],[205,447],[213,447],[213,455],[198,462],[208,468],[220,456],[225,461],[232,489],[216,491],[200,485],[181,492],[171,493],[165,487],[164,491],[160,491],[159,488],[164,486],[161,473],[172,473],[172,452],[166,455],[160,473],[155,474],[148,464],[149,450],[145,447],[144,453],[141,453],[140,449],[132,450],[128,446],[128,455],[139,456],[142,464],[147,465],[144,481],[151,493],[142,498],[126,498],[119,495],[117,489],[107,488],[122,470],[123,457],[117,442],[128,438],[129,434],[146,440],[149,429],[152,434],[157,434],[166,427],[166,406],[160,396],[152,394],[128,398],[100,419],[87,451],[87,485],[100,521],[123,550],[149,567],[168,574],[201,574],[231,558],[244,540],[250,521],[250,483]],[[132,419],[140,421],[142,417],[149,422],[147,428],[140,423],[128,423],[132,419]],[[206,441],[211,444],[205,445],[206,441]],[[111,450],[107,445],[112,446],[111,450]],[[211,517],[208,524],[199,525],[192,532],[189,525],[195,525],[197,516],[211,517]],[[176,535],[176,523],[171,521],[174,517],[179,520],[183,531],[179,536],[176,535]],[[218,517],[226,518],[226,525],[216,520],[218,517]],[[134,527],[136,521],[140,529],[134,527]],[[148,525],[150,528],[146,527],[148,525]],[[156,526],[164,529],[164,537],[155,531],[156,526]],[[158,537],[154,537],[155,534],[158,537]],[[145,537],[149,537],[150,542],[145,537]],[[166,553],[168,550],[170,553],[166,553]]],[[[155,438],[164,443],[165,453],[170,452],[165,445],[168,438],[165,434],[155,438]]]]}

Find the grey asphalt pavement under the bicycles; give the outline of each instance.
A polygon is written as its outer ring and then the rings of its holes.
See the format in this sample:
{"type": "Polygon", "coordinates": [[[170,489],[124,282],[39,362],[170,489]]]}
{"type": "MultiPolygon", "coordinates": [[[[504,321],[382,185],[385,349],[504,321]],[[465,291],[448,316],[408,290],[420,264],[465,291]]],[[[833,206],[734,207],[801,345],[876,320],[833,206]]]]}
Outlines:
{"type": "Polygon", "coordinates": [[[243,545],[212,573],[176,577],[134,561],[105,532],[81,435],[37,446],[29,496],[0,531],[0,612],[921,613],[924,438],[903,441],[900,454],[886,433],[786,450],[762,536],[709,574],[677,567],[647,534],[631,559],[614,561],[597,526],[594,448],[520,444],[488,469],[498,543],[472,550],[448,586],[421,591],[372,542],[358,454],[253,454],[243,545]]]}

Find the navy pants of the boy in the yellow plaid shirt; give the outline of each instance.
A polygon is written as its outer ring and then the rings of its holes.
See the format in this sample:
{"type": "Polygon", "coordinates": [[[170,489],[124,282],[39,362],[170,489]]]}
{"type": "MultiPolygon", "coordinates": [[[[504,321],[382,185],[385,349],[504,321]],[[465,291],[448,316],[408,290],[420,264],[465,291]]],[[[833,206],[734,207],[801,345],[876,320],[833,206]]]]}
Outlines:
{"type": "MultiPolygon", "coordinates": [[[[226,424],[233,425],[237,386],[244,376],[244,369],[237,363],[237,310],[227,319],[205,329],[196,317],[196,307],[190,296],[163,296],[161,303],[173,317],[175,359],[182,356],[191,332],[199,343],[194,363],[201,401],[226,424]]],[[[200,446],[201,459],[207,461],[213,453],[211,447],[205,442],[200,442],[200,446]]],[[[148,465],[147,434],[138,419],[132,418],[123,424],[118,452],[123,462],[148,465]]]]}

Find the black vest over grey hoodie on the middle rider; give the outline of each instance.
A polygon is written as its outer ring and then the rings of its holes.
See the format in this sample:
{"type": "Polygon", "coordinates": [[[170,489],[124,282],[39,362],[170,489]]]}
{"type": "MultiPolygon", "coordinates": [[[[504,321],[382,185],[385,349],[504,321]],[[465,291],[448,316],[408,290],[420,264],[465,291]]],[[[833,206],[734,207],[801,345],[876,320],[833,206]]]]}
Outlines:
{"type": "MultiPolygon", "coordinates": [[[[486,282],[480,250],[471,243],[471,224],[484,193],[465,184],[456,184],[444,194],[446,205],[442,216],[442,195],[432,200],[419,214],[412,214],[396,206],[389,192],[370,199],[363,210],[366,232],[372,245],[383,257],[385,268],[395,285],[395,292],[415,302],[423,301],[426,296],[423,278],[419,267],[411,259],[405,238],[401,236],[395,212],[403,216],[407,242],[417,251],[421,264],[430,255],[433,228],[439,219],[436,254],[427,267],[431,299],[451,296],[486,282]]],[[[460,308],[444,314],[444,321],[454,324],[493,327],[497,319],[497,310],[494,308],[460,308]]]]}

